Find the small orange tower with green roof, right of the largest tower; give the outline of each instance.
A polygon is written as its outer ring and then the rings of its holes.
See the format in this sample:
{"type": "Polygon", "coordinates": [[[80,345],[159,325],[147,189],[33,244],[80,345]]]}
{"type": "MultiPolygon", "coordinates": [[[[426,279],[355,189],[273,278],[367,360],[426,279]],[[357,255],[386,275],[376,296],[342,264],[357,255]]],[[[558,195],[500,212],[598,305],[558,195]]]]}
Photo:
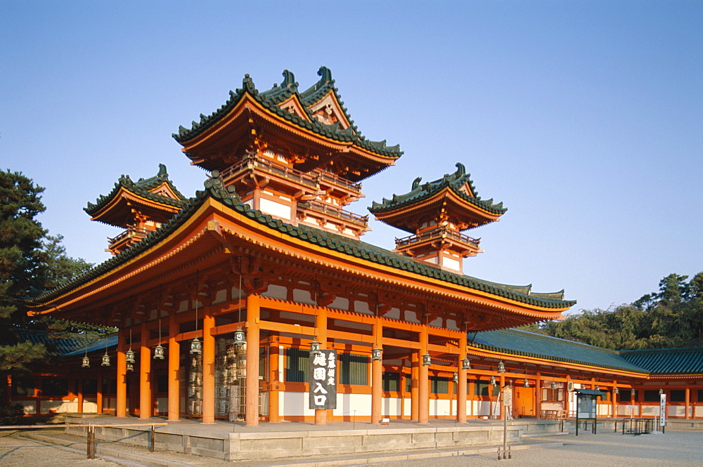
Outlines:
{"type": "Polygon", "coordinates": [[[416,178],[406,195],[373,202],[368,209],[379,221],[412,234],[396,238],[396,251],[463,273],[463,258],[483,250],[480,239],[462,232],[498,221],[507,209],[493,199],[481,199],[463,164],[456,168],[455,173],[423,185],[422,178],[416,178]]]}

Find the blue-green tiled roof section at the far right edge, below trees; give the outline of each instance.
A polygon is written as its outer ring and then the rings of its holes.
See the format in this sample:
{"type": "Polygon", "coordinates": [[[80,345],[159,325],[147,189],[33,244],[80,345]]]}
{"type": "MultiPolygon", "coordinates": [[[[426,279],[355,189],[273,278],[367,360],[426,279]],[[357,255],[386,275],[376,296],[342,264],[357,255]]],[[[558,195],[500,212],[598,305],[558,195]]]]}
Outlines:
{"type": "Polygon", "coordinates": [[[620,354],[652,374],[703,374],[703,347],[622,350],[620,354]]]}

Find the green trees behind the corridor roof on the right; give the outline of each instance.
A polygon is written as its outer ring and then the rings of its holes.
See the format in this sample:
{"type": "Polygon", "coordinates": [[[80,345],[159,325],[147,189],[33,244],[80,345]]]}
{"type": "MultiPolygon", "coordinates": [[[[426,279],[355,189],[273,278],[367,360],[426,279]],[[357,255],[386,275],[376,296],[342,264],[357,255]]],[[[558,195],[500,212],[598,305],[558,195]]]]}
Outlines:
{"type": "Polygon", "coordinates": [[[703,272],[670,274],[633,303],[522,329],[614,350],[703,346],[703,272]]]}

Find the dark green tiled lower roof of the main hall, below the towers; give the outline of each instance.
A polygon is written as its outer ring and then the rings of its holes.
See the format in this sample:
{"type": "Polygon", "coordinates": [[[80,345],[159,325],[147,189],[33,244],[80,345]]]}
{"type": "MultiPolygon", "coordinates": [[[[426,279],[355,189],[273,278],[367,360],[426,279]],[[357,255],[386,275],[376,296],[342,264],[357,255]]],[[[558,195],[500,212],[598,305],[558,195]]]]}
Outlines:
{"type": "MultiPolygon", "coordinates": [[[[212,171],[212,175],[214,177],[219,177],[219,172],[212,171]]],[[[543,308],[567,308],[576,304],[576,301],[563,300],[560,293],[541,295],[533,294],[529,291],[529,286],[506,286],[503,284],[496,284],[495,282],[477,279],[475,277],[456,274],[454,272],[434,268],[430,265],[424,265],[418,261],[413,261],[413,259],[408,258],[408,256],[403,256],[401,254],[394,253],[393,251],[388,251],[378,246],[361,242],[360,240],[350,239],[348,237],[343,237],[342,235],[337,235],[332,232],[325,232],[306,225],[296,226],[285,223],[280,221],[280,219],[274,219],[268,214],[262,213],[262,211],[251,209],[247,204],[243,204],[236,192],[234,192],[234,188],[232,186],[225,188],[224,182],[221,178],[209,178],[205,180],[205,188],[205,191],[197,192],[194,199],[189,199],[186,202],[185,207],[181,209],[181,211],[179,211],[179,213],[177,213],[171,221],[162,225],[161,228],[155,230],[155,232],[152,232],[145,239],[141,240],[141,242],[130,246],[128,249],[125,249],[120,254],[113,256],[108,261],[97,265],[95,268],[85,272],[83,275],[76,277],[70,282],[67,282],[67,284],[64,284],[61,287],[53,289],[52,291],[35,298],[34,301],[36,303],[45,303],[46,301],[50,301],[51,299],[56,298],[61,294],[65,294],[71,289],[78,287],[91,279],[95,279],[96,277],[105,274],[113,268],[116,268],[118,265],[129,261],[131,258],[138,256],[138,254],[141,254],[143,251],[146,251],[146,249],[149,249],[162,239],[165,239],[165,237],[167,237],[171,232],[185,223],[208,197],[213,197],[215,199],[219,199],[234,211],[237,211],[243,216],[247,216],[258,223],[268,225],[270,228],[276,229],[285,235],[297,237],[302,239],[304,242],[317,244],[340,254],[363,258],[368,261],[387,265],[401,271],[414,272],[425,277],[437,279],[441,282],[459,284],[470,289],[483,291],[520,303],[526,303],[528,305],[535,305],[543,308]]]]}

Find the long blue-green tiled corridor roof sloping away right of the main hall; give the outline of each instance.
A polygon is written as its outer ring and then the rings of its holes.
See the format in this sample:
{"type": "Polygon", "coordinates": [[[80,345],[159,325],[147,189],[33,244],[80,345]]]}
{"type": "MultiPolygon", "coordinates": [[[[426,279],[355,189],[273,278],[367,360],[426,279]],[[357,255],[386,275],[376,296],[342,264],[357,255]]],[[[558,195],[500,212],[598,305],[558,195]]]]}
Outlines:
{"type": "Polygon", "coordinates": [[[589,346],[520,329],[501,329],[467,334],[478,348],[503,352],[523,357],[546,358],[565,363],[588,364],[607,369],[619,369],[646,373],[640,365],[623,358],[617,350],[589,346]]]}

